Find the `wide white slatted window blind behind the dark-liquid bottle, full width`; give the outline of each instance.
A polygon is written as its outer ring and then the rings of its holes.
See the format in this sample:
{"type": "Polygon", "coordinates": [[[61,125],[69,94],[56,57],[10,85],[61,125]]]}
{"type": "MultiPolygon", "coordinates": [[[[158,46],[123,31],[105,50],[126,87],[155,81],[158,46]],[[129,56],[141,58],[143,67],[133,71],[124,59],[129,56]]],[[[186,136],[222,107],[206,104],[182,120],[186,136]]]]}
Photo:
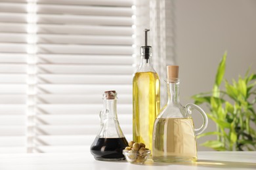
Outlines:
{"type": "Polygon", "coordinates": [[[0,152],[86,152],[102,93],[132,134],[133,1],[0,0],[0,152]]]}

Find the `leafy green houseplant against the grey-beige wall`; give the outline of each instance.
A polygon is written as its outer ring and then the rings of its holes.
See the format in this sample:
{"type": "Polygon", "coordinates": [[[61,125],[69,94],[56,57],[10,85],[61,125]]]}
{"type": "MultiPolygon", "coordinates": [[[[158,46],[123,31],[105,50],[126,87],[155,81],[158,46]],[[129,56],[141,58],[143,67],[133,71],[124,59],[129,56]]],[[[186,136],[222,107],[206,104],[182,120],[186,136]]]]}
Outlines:
{"type": "Polygon", "coordinates": [[[212,92],[192,96],[197,105],[207,105],[207,116],[217,126],[216,131],[198,137],[216,135],[217,140],[202,144],[214,150],[256,150],[256,75],[248,70],[231,84],[223,78],[225,67],[226,53],[219,63],[212,92]]]}

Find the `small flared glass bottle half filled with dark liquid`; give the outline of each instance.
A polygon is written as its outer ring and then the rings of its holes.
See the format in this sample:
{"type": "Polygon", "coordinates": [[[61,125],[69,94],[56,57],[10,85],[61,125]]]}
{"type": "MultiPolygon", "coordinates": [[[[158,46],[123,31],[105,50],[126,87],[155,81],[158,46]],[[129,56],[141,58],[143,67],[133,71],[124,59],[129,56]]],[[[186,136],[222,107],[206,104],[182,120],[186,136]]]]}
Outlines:
{"type": "Polygon", "coordinates": [[[100,111],[100,131],[91,145],[91,154],[95,160],[125,160],[122,154],[128,142],[121,131],[116,112],[116,91],[103,94],[104,110],[100,111]]]}

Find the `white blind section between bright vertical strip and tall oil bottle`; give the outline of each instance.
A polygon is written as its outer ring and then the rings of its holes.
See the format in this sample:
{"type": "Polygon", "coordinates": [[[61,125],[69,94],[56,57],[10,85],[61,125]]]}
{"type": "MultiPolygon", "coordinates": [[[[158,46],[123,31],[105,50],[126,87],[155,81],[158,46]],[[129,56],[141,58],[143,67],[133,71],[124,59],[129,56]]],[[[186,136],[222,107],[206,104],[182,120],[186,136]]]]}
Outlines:
{"type": "Polygon", "coordinates": [[[33,152],[87,151],[100,127],[104,90],[117,90],[121,128],[131,135],[131,5],[37,2],[33,152]]]}

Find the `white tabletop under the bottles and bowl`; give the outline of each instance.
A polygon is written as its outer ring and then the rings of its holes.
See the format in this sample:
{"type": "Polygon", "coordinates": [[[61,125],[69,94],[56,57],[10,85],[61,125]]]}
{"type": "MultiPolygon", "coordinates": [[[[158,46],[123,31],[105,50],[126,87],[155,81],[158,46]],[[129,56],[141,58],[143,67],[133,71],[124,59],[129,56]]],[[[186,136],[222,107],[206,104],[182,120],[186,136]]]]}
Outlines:
{"type": "Polygon", "coordinates": [[[198,152],[196,163],[145,163],[96,161],[91,153],[0,154],[0,170],[5,169],[256,169],[256,152],[198,152]]]}

